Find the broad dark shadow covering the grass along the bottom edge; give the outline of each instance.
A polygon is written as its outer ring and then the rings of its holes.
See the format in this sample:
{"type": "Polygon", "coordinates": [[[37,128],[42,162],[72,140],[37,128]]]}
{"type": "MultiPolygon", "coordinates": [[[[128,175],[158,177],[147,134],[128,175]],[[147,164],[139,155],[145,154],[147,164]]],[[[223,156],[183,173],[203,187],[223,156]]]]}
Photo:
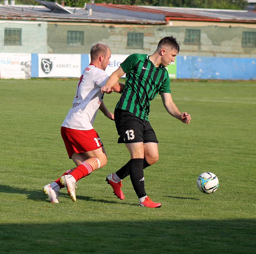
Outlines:
{"type": "Polygon", "coordinates": [[[8,223],[0,232],[0,253],[256,253],[253,219],[8,223]]]}

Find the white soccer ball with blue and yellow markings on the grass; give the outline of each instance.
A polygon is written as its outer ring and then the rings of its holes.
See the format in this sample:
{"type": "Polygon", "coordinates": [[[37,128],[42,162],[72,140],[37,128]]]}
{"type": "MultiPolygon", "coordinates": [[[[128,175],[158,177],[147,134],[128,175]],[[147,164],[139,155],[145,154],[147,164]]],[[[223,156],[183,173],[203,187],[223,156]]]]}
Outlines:
{"type": "Polygon", "coordinates": [[[204,172],[197,178],[197,187],[206,194],[215,192],[219,187],[219,179],[211,172],[204,172]]]}

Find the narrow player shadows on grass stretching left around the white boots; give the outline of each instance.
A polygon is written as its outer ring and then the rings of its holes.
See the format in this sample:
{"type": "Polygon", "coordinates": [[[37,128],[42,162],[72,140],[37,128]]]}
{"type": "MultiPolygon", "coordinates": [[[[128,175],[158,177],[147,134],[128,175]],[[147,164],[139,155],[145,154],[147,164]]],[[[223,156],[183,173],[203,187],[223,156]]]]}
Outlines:
{"type": "MultiPolygon", "coordinates": [[[[13,188],[13,187],[8,186],[8,185],[0,184],[0,192],[25,194],[25,195],[27,195],[28,199],[32,199],[34,201],[49,202],[49,199],[43,193],[43,189],[42,190],[27,190],[27,189],[24,189],[24,188],[13,188]]],[[[60,192],[60,197],[61,196],[69,198],[67,193],[60,192]]],[[[85,201],[102,202],[102,203],[105,203],[105,204],[106,203],[107,204],[118,204],[118,202],[116,202],[116,201],[109,201],[109,200],[106,200],[106,199],[94,199],[94,198],[88,197],[88,196],[76,195],[76,198],[81,199],[81,200],[85,200],[85,201]]]]}

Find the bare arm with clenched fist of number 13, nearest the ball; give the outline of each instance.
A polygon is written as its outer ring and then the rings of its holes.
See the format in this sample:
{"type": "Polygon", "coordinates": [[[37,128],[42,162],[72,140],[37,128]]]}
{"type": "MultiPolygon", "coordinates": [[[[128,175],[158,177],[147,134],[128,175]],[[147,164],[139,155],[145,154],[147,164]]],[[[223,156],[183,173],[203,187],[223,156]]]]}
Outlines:
{"type": "Polygon", "coordinates": [[[174,116],[175,118],[179,119],[183,123],[189,123],[191,120],[190,115],[187,112],[180,113],[180,110],[177,108],[175,103],[172,101],[171,93],[161,93],[161,98],[164,104],[164,108],[167,112],[174,116]]]}

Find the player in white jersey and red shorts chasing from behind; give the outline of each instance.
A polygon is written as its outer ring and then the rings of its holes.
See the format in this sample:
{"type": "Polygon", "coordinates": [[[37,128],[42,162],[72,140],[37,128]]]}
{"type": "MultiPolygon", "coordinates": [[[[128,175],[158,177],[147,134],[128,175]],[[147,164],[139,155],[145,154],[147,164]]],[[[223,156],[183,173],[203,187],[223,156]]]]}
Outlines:
{"type": "MultiPolygon", "coordinates": [[[[107,163],[105,149],[92,125],[98,109],[114,120],[114,115],[103,103],[101,92],[101,87],[108,80],[105,70],[111,51],[107,45],[97,43],[92,46],[90,55],[91,63],[79,79],[72,108],[61,125],[61,136],[76,168],[69,169],[56,181],[44,186],[43,191],[51,203],[59,203],[59,190],[64,187],[72,201],[76,201],[76,182],[107,163]]],[[[123,85],[117,83],[113,90],[120,92],[120,86],[123,85]]]]}

